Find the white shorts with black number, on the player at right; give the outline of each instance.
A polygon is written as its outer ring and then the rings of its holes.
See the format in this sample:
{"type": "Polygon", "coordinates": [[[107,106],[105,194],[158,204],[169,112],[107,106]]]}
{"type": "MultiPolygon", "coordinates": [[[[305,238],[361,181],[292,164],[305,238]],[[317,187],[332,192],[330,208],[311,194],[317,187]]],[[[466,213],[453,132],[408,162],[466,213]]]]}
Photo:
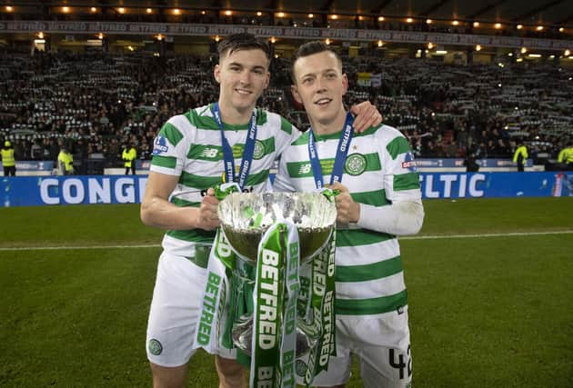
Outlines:
{"type": "Polygon", "coordinates": [[[357,355],[365,388],[409,387],[412,355],[407,306],[402,313],[385,313],[383,318],[337,319],[337,357],[330,358],[328,370],[318,373],[312,385],[347,383],[350,353],[357,355]]]}

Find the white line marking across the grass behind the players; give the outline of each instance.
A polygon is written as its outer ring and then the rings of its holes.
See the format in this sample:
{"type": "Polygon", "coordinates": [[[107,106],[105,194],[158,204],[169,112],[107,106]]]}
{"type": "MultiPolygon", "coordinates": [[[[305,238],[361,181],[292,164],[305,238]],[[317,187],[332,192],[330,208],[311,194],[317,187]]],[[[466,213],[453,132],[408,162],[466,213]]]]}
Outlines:
{"type": "MultiPolygon", "coordinates": [[[[554,232],[514,232],[500,234],[438,234],[438,235],[413,235],[400,237],[400,240],[446,240],[450,238],[489,238],[489,237],[515,237],[529,235],[551,235],[551,234],[573,234],[573,230],[554,232]]],[[[58,251],[69,249],[137,249],[137,248],[159,248],[159,244],[137,244],[137,245],[90,245],[90,246],[28,246],[28,247],[0,247],[0,252],[9,251],[58,251]]]]}

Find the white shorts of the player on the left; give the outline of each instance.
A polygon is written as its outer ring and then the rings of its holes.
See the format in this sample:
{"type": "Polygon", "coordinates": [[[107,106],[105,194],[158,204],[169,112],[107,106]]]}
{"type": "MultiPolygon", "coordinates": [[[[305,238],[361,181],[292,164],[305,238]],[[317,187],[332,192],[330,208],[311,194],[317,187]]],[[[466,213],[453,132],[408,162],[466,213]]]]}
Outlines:
{"type": "MultiPolygon", "coordinates": [[[[147,322],[146,350],[150,362],[180,366],[196,352],[191,347],[205,284],[205,268],[182,256],[161,254],[147,322]]],[[[236,358],[236,351],[221,349],[219,355],[236,358]]]]}

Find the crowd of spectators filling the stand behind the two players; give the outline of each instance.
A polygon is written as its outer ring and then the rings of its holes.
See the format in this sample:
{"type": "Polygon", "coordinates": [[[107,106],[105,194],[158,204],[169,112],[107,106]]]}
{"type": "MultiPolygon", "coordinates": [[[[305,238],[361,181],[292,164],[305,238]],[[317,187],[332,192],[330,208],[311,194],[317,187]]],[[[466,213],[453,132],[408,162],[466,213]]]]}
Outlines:
{"type": "MultiPolygon", "coordinates": [[[[145,53],[0,54],[0,140],[16,160],[55,160],[65,144],[78,160],[121,166],[135,144],[150,159],[161,124],[216,100],[214,56],[145,53]]],[[[432,59],[344,57],[346,103],[369,99],[385,124],[407,135],[417,157],[557,158],[573,139],[573,70],[553,63],[446,65],[432,59]]],[[[271,65],[260,106],[300,129],[307,117],[290,95],[290,62],[271,65]]]]}

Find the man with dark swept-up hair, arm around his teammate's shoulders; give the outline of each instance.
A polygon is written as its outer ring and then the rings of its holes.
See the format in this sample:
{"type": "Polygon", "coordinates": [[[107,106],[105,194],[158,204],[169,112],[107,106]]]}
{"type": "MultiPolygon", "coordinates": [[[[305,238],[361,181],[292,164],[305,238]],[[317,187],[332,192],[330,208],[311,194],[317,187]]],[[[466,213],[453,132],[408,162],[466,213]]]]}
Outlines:
{"type": "MultiPolygon", "coordinates": [[[[141,204],[144,224],[167,230],[146,339],[155,387],[186,383],[206,283],[206,260],[196,247],[211,244],[219,225],[213,187],[224,177],[244,191],[266,191],[272,164],[298,136],[283,117],[256,109],[270,76],[266,42],[248,34],[229,35],[218,53],[218,102],[177,114],[164,124],[154,142],[141,204]]],[[[369,103],[354,113],[363,129],[381,121],[369,103]]],[[[220,387],[246,386],[245,369],[235,358],[224,349],[216,355],[220,387]]]]}

